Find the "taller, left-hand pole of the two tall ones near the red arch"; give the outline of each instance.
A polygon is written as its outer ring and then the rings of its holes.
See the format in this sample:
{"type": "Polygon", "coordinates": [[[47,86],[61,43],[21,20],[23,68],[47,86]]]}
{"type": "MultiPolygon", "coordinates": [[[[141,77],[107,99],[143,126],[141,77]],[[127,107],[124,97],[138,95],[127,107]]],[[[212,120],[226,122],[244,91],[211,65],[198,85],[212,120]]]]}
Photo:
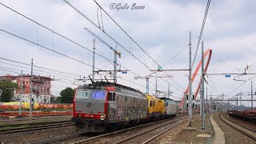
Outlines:
{"type": "Polygon", "coordinates": [[[192,127],[192,101],[191,101],[191,94],[192,94],[192,81],[191,81],[191,31],[190,31],[190,75],[189,75],[189,127],[192,127]]]}

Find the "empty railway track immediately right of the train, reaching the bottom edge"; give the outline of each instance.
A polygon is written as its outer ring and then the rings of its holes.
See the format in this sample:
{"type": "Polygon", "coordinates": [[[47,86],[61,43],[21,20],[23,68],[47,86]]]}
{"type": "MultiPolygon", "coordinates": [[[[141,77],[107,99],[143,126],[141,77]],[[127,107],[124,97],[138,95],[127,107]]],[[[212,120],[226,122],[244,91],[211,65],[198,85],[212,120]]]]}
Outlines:
{"type": "MultiPolygon", "coordinates": [[[[101,135],[90,137],[90,138],[83,138],[83,139],[78,140],[76,142],[68,142],[68,143],[70,143],[70,144],[102,143],[102,142],[106,142],[106,143],[123,143],[123,142],[133,143],[133,142],[128,142],[128,141],[133,140],[135,137],[137,137],[139,135],[142,135],[142,134],[146,134],[147,132],[150,132],[152,130],[160,130],[160,129],[166,130],[166,126],[169,126],[168,129],[170,130],[170,129],[174,128],[175,126],[178,126],[178,125],[182,124],[183,122],[186,122],[187,118],[188,118],[187,116],[183,116],[182,118],[179,118],[179,119],[171,118],[171,119],[167,119],[167,120],[146,123],[146,124],[143,124],[143,125],[140,125],[140,126],[130,127],[128,129],[125,129],[125,130],[118,130],[118,131],[114,131],[112,133],[101,134],[101,135]],[[152,126],[152,127],[149,129],[149,126],[152,126]],[[132,134],[132,133],[134,133],[134,134],[132,134]]],[[[159,134],[159,133],[160,132],[158,132],[157,134],[159,134]]],[[[156,137],[158,137],[158,136],[156,136],[156,137]]],[[[147,137],[147,138],[149,138],[149,137],[147,137]]],[[[152,137],[150,136],[150,138],[152,138],[152,137]]],[[[146,140],[148,140],[148,139],[146,139],[146,140]]],[[[152,139],[150,139],[149,142],[151,140],[152,139]]],[[[139,142],[142,142],[142,141],[139,141],[139,142]]]]}

